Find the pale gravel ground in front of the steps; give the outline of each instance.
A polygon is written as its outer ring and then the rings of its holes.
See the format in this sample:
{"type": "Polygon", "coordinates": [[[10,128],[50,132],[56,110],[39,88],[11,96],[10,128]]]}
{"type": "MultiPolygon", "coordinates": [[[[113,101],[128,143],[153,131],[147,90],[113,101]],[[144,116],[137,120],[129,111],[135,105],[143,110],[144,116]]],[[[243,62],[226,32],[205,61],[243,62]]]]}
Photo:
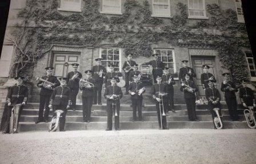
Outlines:
{"type": "Polygon", "coordinates": [[[1,163],[256,163],[256,130],[0,134],[1,163]]]}

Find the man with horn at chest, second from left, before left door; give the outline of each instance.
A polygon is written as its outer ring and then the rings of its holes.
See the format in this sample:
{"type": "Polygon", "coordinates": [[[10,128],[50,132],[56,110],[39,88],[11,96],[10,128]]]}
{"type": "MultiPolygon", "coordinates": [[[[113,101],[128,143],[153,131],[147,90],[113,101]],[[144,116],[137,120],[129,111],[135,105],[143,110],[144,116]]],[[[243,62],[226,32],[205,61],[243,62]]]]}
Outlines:
{"type": "Polygon", "coordinates": [[[39,113],[38,120],[35,123],[39,122],[48,122],[49,117],[49,102],[51,98],[51,94],[53,93],[53,89],[60,85],[57,77],[53,74],[53,67],[46,67],[46,75],[42,77],[47,82],[39,81],[37,83],[38,87],[41,87],[40,91],[40,101],[39,101],[39,113]],[[45,109],[45,114],[43,115],[43,109],[45,109]]]}

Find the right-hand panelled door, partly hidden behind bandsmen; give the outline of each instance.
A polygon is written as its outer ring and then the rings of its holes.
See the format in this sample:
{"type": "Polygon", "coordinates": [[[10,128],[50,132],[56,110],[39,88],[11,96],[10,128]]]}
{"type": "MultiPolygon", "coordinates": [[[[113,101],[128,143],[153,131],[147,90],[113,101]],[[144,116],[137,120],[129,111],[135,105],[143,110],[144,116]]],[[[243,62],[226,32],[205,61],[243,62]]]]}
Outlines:
{"type": "MultiPolygon", "coordinates": [[[[195,70],[195,73],[197,74],[195,83],[197,84],[197,87],[198,87],[199,96],[204,97],[205,90],[203,90],[202,83],[201,83],[201,74],[203,73],[202,66],[203,65],[210,66],[209,73],[213,74],[214,77],[216,78],[217,70],[215,67],[215,59],[214,59],[214,57],[191,57],[191,59],[192,59],[193,69],[195,70]]],[[[216,80],[217,80],[217,78],[216,78],[216,80]]],[[[214,86],[217,86],[217,83],[214,83],[214,86]]]]}

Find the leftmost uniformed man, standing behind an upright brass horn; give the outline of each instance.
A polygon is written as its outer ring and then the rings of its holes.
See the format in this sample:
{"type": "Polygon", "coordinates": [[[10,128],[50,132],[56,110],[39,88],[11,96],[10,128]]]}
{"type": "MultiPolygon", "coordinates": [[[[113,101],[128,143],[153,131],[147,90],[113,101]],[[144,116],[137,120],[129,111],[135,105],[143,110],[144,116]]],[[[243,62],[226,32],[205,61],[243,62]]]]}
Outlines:
{"type": "MultiPolygon", "coordinates": [[[[27,102],[27,96],[29,95],[29,90],[25,85],[23,85],[23,79],[24,77],[18,76],[14,78],[17,83],[10,87],[8,94],[7,94],[7,118],[6,122],[3,127],[2,134],[6,134],[10,130],[10,117],[11,117],[11,109],[14,105],[21,104],[21,107],[19,108],[19,114],[18,114],[18,125],[19,125],[19,117],[21,116],[21,112],[23,109],[23,105],[26,105],[27,102]]],[[[18,133],[18,125],[17,129],[13,131],[13,133],[18,133]]]]}

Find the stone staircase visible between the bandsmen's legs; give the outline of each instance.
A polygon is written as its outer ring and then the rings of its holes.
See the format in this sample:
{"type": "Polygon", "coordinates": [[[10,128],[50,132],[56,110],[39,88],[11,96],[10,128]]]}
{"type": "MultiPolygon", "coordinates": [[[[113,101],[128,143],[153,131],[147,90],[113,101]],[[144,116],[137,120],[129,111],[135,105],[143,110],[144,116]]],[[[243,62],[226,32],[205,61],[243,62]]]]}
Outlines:
{"type": "MultiPolygon", "coordinates": [[[[78,104],[76,111],[68,110],[66,116],[66,130],[105,130],[107,126],[106,104],[94,105],[91,112],[91,122],[82,120],[82,105],[78,104]]],[[[243,110],[239,109],[239,118],[242,122],[230,121],[229,111],[226,105],[222,105],[223,125],[226,129],[248,129],[243,110]]],[[[38,123],[38,103],[28,103],[22,111],[19,122],[19,131],[47,131],[49,123],[38,123]]],[[[210,111],[206,106],[197,106],[197,116],[199,122],[191,122],[187,117],[186,105],[175,105],[176,112],[169,112],[167,115],[167,125],[169,129],[213,129],[213,121],[210,111]]],[[[143,122],[132,122],[133,111],[130,104],[121,104],[120,128],[129,129],[158,129],[157,112],[155,105],[146,105],[142,108],[143,122]]],[[[52,112],[50,111],[49,121],[52,112]]]]}

